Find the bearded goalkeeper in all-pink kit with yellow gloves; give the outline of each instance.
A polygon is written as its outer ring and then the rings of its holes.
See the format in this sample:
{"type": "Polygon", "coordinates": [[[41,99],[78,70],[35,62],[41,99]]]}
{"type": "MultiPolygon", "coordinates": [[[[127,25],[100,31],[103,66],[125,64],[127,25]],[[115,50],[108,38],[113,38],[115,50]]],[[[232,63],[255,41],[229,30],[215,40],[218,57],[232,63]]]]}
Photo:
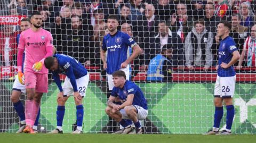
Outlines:
{"type": "Polygon", "coordinates": [[[43,65],[44,58],[53,53],[52,35],[41,28],[43,16],[35,12],[31,15],[31,28],[21,32],[18,46],[18,78],[26,87],[27,100],[25,104],[25,133],[35,133],[33,125],[40,107],[43,93],[48,90],[48,70],[43,65]],[[23,82],[22,55],[25,51],[23,82]]]}

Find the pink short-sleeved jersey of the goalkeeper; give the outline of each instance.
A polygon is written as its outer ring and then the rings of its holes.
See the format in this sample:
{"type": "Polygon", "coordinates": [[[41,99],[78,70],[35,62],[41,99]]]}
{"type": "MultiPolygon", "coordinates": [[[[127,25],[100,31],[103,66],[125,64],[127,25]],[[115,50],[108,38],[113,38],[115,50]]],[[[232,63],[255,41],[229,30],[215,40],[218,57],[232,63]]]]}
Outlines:
{"type": "MultiPolygon", "coordinates": [[[[24,72],[35,72],[32,69],[33,64],[44,58],[46,47],[53,47],[52,41],[51,33],[42,28],[37,32],[31,28],[21,32],[18,48],[25,49],[24,72]]],[[[42,70],[35,73],[47,74],[48,69],[43,65],[42,70]]]]}

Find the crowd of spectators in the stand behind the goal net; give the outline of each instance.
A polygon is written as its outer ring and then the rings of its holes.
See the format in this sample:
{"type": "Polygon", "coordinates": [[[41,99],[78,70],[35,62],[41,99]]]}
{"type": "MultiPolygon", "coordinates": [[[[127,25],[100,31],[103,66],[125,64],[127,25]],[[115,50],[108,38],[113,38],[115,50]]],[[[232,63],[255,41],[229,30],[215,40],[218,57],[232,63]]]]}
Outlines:
{"type": "MultiPolygon", "coordinates": [[[[0,9],[0,15],[30,16],[39,11],[43,28],[52,33],[58,53],[100,68],[101,43],[108,34],[106,19],[116,14],[119,30],[143,49],[132,63],[133,75],[150,70],[158,55],[167,60],[159,63],[165,70],[201,66],[208,71],[217,65],[217,25],[227,20],[232,24],[230,36],[242,55],[236,69],[255,66],[256,1],[252,0],[7,0],[0,2],[0,9]]],[[[10,61],[15,61],[17,54],[19,28],[0,28],[0,64],[15,64],[10,61]]]]}

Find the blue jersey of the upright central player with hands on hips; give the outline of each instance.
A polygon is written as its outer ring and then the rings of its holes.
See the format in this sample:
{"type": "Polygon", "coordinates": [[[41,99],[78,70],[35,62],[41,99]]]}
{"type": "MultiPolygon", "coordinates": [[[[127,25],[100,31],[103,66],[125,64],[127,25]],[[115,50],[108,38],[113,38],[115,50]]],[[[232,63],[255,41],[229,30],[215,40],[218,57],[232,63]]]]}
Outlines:
{"type": "Polygon", "coordinates": [[[103,51],[107,51],[107,73],[121,69],[121,64],[127,60],[128,47],[133,47],[135,41],[126,33],[117,31],[115,35],[106,35],[102,41],[103,51]]]}

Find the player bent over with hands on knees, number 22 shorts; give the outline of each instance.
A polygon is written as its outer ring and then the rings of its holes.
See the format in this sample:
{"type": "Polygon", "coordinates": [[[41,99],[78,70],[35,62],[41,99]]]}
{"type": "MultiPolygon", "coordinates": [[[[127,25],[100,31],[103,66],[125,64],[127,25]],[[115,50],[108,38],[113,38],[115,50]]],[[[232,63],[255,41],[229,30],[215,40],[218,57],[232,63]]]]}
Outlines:
{"type": "Polygon", "coordinates": [[[82,133],[84,117],[83,97],[89,83],[89,73],[75,58],[63,54],[55,54],[45,58],[45,67],[53,74],[53,79],[60,92],[57,97],[57,128],[49,133],[63,133],[62,122],[65,114],[65,103],[70,95],[74,95],[76,104],[77,129],[72,133],[82,133]],[[59,73],[67,77],[61,86],[59,73]]]}

